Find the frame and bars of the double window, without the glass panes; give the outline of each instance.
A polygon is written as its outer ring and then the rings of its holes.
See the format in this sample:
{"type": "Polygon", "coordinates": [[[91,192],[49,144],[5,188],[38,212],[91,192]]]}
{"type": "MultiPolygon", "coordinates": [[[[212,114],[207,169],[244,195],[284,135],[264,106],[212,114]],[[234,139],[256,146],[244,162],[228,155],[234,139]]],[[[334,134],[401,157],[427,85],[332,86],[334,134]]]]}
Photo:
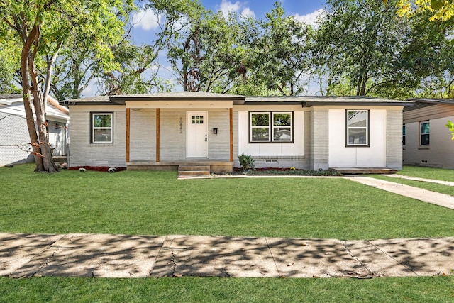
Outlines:
{"type": "Polygon", "coordinates": [[[249,142],[250,143],[293,143],[293,111],[250,111],[249,112],[249,142]],[[267,126],[253,126],[253,114],[267,114],[268,125],[267,126]],[[275,114],[289,114],[290,125],[289,126],[275,126],[275,114]],[[267,128],[268,139],[267,140],[253,140],[253,129],[254,128],[267,128]],[[277,140],[275,139],[275,133],[278,128],[289,128],[290,140],[277,140]]]}

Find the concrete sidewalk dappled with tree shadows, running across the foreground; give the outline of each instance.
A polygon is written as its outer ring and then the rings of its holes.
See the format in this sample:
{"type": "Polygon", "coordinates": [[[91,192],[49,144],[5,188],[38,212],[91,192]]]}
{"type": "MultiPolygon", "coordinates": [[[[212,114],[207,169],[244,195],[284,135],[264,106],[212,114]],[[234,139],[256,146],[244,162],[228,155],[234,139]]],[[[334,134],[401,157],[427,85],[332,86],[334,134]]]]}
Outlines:
{"type": "Polygon", "coordinates": [[[6,277],[453,275],[454,237],[336,239],[0,233],[6,277]]]}

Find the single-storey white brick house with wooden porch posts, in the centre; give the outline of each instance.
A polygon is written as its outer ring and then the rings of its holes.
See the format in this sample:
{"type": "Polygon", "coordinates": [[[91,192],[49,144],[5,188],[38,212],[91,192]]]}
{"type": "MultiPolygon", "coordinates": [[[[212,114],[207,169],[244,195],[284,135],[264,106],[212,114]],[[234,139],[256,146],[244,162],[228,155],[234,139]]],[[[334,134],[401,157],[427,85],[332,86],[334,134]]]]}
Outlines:
{"type": "Polygon", "coordinates": [[[70,104],[70,167],[402,169],[402,109],[370,97],[243,97],[178,92],[91,97],[70,104]]]}

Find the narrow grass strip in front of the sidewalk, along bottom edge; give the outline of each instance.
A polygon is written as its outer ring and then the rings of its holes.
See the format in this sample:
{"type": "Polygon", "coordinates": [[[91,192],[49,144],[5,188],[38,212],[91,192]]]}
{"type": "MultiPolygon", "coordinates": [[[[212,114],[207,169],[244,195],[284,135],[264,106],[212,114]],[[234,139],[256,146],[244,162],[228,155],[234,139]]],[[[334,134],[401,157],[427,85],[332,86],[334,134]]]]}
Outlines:
{"type": "Polygon", "coordinates": [[[453,302],[454,278],[0,278],[0,302],[453,302]]]}

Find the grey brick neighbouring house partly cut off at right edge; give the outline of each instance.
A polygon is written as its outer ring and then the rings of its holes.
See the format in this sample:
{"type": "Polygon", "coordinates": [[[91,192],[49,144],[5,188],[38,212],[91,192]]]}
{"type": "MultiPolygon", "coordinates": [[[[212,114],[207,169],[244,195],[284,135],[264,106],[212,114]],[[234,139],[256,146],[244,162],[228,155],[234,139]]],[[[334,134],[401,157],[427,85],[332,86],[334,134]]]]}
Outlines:
{"type": "Polygon", "coordinates": [[[454,121],[454,99],[409,99],[404,109],[404,164],[454,168],[454,141],[446,127],[454,121]]]}

